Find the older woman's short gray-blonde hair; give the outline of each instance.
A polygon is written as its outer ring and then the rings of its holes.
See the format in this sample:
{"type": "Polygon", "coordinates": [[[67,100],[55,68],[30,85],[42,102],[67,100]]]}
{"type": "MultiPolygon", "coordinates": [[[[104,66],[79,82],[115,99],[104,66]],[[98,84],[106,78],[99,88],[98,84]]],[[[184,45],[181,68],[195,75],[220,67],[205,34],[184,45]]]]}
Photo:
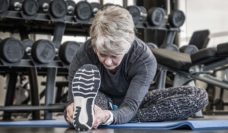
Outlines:
{"type": "Polygon", "coordinates": [[[125,54],[135,39],[134,22],[128,10],[108,6],[97,12],[90,36],[93,48],[103,53],[125,54]]]}

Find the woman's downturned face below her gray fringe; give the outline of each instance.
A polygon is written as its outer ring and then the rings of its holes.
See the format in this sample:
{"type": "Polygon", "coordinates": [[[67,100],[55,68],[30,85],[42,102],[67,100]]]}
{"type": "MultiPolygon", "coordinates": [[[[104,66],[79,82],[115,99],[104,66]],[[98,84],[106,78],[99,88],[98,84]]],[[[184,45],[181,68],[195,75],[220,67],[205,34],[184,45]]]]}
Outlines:
{"type": "Polygon", "coordinates": [[[102,53],[99,50],[95,50],[99,61],[104,65],[108,70],[115,70],[121,63],[123,55],[111,55],[109,53],[102,53]]]}

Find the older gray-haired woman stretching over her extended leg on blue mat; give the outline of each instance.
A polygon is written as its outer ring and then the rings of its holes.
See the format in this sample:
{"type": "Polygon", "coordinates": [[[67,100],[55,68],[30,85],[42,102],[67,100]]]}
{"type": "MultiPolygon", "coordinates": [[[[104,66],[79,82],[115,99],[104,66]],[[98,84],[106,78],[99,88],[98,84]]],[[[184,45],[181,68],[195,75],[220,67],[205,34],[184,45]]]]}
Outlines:
{"type": "Polygon", "coordinates": [[[69,68],[65,119],[76,130],[129,121],[187,119],[208,103],[206,91],[196,87],[148,92],[157,62],[135,36],[126,9],[107,6],[99,11],[90,36],[69,68]]]}

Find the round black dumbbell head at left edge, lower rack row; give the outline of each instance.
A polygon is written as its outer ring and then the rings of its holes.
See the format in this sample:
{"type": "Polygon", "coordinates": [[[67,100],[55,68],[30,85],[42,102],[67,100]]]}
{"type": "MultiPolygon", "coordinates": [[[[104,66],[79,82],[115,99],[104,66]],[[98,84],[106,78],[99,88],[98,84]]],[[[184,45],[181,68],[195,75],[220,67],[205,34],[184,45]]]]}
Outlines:
{"type": "Polygon", "coordinates": [[[24,56],[24,47],[20,40],[6,38],[0,43],[0,57],[8,63],[20,62],[24,56]]]}

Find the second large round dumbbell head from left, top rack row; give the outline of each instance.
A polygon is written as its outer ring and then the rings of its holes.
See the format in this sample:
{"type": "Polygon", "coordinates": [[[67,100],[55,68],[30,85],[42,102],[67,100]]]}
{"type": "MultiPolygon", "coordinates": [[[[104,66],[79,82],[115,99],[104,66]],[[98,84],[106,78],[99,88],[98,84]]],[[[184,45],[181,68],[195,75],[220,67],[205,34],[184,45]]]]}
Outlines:
{"type": "Polygon", "coordinates": [[[24,14],[28,16],[34,16],[39,10],[39,4],[37,0],[24,0],[22,5],[24,14]]]}

